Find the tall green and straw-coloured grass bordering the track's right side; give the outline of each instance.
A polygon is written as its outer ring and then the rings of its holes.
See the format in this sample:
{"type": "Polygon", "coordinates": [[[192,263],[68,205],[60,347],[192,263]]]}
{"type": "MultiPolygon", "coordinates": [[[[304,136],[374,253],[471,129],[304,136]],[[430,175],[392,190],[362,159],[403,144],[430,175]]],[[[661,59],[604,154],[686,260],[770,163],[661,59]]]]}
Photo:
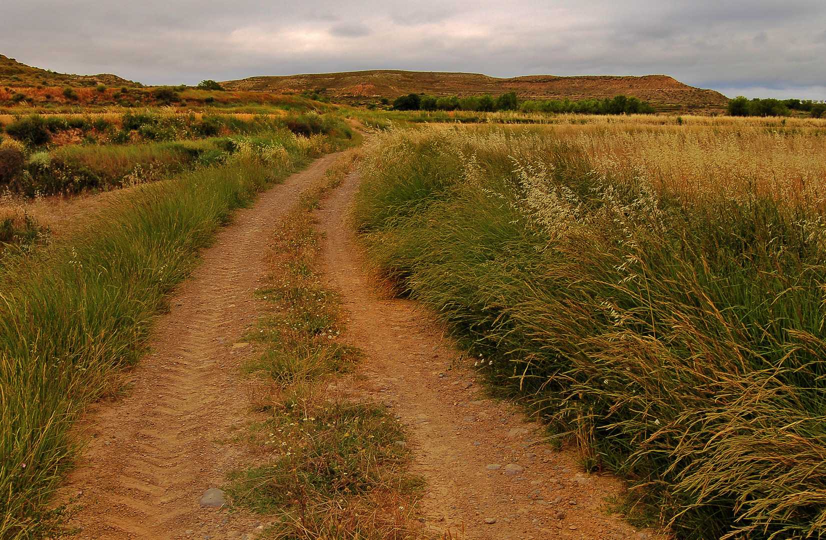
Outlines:
{"type": "Polygon", "coordinates": [[[566,130],[379,137],[354,211],[377,272],[680,538],[826,536],[821,206],[786,196],[794,176],[663,182],[647,128],[566,130]]]}

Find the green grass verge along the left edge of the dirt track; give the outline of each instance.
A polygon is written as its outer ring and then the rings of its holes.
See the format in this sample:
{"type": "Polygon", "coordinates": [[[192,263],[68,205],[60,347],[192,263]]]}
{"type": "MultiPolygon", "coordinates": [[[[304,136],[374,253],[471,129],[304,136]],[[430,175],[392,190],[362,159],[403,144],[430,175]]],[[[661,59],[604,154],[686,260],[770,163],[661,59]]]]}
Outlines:
{"type": "MultiPolygon", "coordinates": [[[[81,444],[84,407],[120,388],[164,298],[216,227],[314,157],[249,145],[221,168],[140,186],[0,277],[0,538],[59,534],[45,510],[81,444]]],[[[60,509],[59,509],[60,510],[60,509]]]]}

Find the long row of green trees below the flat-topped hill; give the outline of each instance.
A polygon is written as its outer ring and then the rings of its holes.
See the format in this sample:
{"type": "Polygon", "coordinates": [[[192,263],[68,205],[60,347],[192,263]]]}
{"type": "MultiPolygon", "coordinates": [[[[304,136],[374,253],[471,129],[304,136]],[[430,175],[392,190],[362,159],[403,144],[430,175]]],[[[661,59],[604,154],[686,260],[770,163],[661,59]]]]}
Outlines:
{"type": "Polygon", "coordinates": [[[571,101],[526,100],[520,101],[516,92],[507,92],[499,97],[484,96],[429,96],[407,94],[393,101],[396,111],[523,111],[523,112],[579,112],[595,115],[653,114],[656,112],[648,102],[636,97],[615,96],[613,99],[583,99],[571,101]]]}

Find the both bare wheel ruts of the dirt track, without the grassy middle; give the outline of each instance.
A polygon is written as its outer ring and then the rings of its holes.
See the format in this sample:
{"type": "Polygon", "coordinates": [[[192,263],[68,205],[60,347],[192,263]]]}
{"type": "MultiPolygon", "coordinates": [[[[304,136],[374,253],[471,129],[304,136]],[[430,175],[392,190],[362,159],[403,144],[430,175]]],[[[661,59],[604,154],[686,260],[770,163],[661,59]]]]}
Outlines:
{"type": "MultiPolygon", "coordinates": [[[[235,341],[259,316],[251,291],[274,226],[333,159],[316,161],[238,212],[171,300],[131,396],[89,414],[94,438],[68,487],[83,490],[87,507],[77,538],[244,538],[267,520],[198,501],[251,458],[230,442],[248,419],[247,386],[235,369],[252,353],[235,341]]],[[[365,377],[341,389],[392,405],[407,424],[415,472],[429,484],[421,528],[460,538],[648,536],[601,514],[615,481],[580,474],[572,455],[536,443],[520,414],[484,398],[438,324],[414,302],[371,287],[344,225],[357,186],[358,175],[349,175],[317,215],[326,234],[323,271],[349,310],[344,339],[368,353],[365,377]]]]}

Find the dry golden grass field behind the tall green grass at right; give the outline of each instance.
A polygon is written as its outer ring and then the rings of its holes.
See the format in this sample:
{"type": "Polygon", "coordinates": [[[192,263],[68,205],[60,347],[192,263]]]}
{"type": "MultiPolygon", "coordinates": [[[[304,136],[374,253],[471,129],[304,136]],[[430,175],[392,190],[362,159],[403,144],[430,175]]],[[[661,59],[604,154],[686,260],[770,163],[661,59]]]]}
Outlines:
{"type": "Polygon", "coordinates": [[[739,197],[750,188],[823,207],[826,120],[731,116],[581,116],[550,126],[586,149],[601,173],[632,174],[686,196],[739,197]]]}

